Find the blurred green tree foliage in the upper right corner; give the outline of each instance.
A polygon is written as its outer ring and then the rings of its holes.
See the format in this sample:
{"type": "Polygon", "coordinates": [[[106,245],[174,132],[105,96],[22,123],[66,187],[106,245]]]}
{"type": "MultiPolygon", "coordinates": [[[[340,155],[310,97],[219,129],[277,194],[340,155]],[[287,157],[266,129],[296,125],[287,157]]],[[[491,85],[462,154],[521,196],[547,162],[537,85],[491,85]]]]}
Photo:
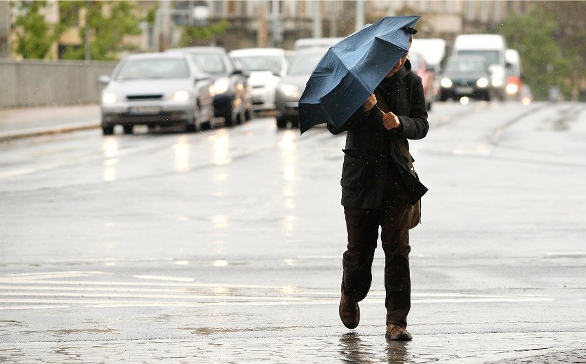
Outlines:
{"type": "MultiPolygon", "coordinates": [[[[530,14],[510,13],[499,28],[508,47],[517,49],[524,82],[536,98],[546,98],[550,87],[577,97],[586,81],[583,39],[583,1],[537,2],[530,14]]],[[[583,91],[582,91],[583,92],[583,91]]]]}

